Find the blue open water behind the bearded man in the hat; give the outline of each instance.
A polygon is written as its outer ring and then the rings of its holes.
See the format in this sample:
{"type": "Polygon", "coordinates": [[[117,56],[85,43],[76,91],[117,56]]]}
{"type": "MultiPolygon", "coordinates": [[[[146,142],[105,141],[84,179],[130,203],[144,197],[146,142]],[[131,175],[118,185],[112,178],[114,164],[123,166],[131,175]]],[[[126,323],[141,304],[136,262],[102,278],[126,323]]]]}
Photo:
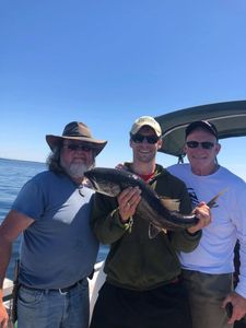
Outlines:
{"type": "MultiPolygon", "coordinates": [[[[13,200],[22,186],[37,173],[45,171],[44,163],[0,159],[0,223],[9,212],[13,200]]],[[[13,253],[8,268],[7,277],[13,279],[13,268],[19,256],[19,237],[13,244],[13,253]]],[[[101,246],[97,261],[105,259],[107,247],[101,246]]]]}

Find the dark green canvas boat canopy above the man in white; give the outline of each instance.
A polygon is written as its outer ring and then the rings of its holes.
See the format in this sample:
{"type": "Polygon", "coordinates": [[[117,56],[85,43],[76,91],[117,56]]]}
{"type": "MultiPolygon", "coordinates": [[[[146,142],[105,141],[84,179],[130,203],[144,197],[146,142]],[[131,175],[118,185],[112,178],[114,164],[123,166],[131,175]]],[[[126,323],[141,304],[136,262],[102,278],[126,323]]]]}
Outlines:
{"type": "Polygon", "coordinates": [[[175,110],[155,117],[162,127],[160,152],[183,157],[185,129],[195,120],[209,120],[218,129],[219,139],[246,136],[246,101],[215,103],[175,110]]]}

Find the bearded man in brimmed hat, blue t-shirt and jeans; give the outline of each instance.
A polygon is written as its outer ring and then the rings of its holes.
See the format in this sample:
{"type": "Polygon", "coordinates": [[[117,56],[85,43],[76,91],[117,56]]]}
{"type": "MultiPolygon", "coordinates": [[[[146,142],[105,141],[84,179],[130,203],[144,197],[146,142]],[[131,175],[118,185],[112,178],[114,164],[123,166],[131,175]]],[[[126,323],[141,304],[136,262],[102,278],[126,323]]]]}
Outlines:
{"type": "MultiPolygon", "coordinates": [[[[93,191],[84,172],[106,144],[82,122],[72,121],[62,136],[46,136],[51,149],[48,171],[28,180],[0,226],[2,286],[16,237],[23,233],[17,296],[19,328],[86,328],[89,283],[98,251],[90,227],[93,191]]],[[[0,289],[0,327],[8,314],[0,289]]]]}

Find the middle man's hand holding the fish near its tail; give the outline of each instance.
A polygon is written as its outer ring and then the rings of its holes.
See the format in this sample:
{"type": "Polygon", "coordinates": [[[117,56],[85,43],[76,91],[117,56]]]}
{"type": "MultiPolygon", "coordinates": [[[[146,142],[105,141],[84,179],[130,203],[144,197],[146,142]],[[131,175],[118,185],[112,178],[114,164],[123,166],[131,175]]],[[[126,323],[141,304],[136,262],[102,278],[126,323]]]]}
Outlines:
{"type": "Polygon", "coordinates": [[[191,234],[198,232],[202,227],[209,225],[212,220],[212,214],[210,207],[206,202],[200,202],[196,209],[192,211],[194,214],[199,219],[198,223],[194,226],[187,229],[187,231],[191,234]]]}

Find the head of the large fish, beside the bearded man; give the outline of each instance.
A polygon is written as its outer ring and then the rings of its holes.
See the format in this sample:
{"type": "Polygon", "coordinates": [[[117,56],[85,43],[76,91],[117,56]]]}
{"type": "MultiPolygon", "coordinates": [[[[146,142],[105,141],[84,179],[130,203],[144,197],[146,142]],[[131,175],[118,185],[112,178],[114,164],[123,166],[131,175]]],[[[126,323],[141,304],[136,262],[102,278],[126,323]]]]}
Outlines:
{"type": "Polygon", "coordinates": [[[115,180],[115,175],[110,168],[96,167],[84,173],[85,178],[91,183],[91,187],[109,197],[116,197],[120,194],[121,188],[115,180]]]}

